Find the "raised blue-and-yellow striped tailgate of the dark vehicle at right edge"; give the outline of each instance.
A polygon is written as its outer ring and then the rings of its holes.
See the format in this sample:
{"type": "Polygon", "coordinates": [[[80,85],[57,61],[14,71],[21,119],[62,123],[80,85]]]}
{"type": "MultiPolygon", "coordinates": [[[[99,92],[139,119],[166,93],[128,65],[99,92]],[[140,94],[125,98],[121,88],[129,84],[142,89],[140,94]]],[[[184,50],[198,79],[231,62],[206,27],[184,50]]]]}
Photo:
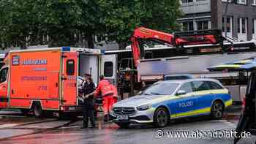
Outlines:
{"type": "Polygon", "coordinates": [[[225,72],[233,72],[233,71],[251,71],[256,69],[256,57],[255,58],[246,58],[241,61],[233,61],[227,64],[219,64],[217,66],[208,67],[209,71],[225,71],[225,72]]]}

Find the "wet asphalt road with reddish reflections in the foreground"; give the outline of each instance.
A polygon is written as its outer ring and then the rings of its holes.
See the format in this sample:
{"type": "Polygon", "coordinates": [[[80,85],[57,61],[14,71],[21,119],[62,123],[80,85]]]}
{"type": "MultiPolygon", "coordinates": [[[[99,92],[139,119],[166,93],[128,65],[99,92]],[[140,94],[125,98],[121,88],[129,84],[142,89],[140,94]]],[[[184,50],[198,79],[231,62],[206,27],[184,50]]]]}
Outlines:
{"type": "MultiPolygon", "coordinates": [[[[148,125],[132,125],[129,129],[120,129],[116,124],[104,123],[100,118],[97,129],[80,129],[82,122],[59,121],[56,118],[38,119],[32,115],[23,116],[19,113],[1,115],[0,112],[0,143],[233,143],[233,138],[184,138],[168,137],[167,132],[214,132],[216,130],[231,131],[236,128],[240,109],[228,110],[221,120],[208,117],[178,119],[163,129],[148,125]],[[157,137],[156,132],[165,132],[157,137]],[[159,132],[159,131],[158,131],[159,132]]],[[[239,143],[255,143],[256,137],[244,138],[239,143]]]]}

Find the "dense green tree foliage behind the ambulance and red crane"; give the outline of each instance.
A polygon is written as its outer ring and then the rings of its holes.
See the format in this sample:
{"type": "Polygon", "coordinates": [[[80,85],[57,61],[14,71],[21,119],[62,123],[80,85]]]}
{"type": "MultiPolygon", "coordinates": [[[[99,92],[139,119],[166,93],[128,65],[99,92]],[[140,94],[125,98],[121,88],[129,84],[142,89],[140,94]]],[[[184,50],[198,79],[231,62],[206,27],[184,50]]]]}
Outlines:
{"type": "Polygon", "coordinates": [[[108,34],[126,45],[136,26],[176,30],[179,7],[178,0],[0,0],[0,43],[78,46],[108,34]]]}

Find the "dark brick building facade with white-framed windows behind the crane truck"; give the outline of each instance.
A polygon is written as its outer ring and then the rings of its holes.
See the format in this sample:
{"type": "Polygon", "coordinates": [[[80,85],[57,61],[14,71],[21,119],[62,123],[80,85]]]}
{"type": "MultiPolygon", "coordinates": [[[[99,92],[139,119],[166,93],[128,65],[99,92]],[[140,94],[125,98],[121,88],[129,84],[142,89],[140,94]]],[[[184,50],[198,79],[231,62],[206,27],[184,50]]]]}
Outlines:
{"type": "Polygon", "coordinates": [[[184,31],[222,29],[223,36],[256,39],[256,0],[181,0],[184,31]]]}

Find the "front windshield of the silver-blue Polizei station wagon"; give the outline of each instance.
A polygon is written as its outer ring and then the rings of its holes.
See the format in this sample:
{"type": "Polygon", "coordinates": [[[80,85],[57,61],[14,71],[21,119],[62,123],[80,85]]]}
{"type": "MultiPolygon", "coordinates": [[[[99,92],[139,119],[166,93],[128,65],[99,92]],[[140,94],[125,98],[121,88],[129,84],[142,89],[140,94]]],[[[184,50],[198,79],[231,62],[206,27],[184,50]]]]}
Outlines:
{"type": "Polygon", "coordinates": [[[178,83],[157,83],[146,88],[141,95],[170,95],[177,86],[178,83]]]}

